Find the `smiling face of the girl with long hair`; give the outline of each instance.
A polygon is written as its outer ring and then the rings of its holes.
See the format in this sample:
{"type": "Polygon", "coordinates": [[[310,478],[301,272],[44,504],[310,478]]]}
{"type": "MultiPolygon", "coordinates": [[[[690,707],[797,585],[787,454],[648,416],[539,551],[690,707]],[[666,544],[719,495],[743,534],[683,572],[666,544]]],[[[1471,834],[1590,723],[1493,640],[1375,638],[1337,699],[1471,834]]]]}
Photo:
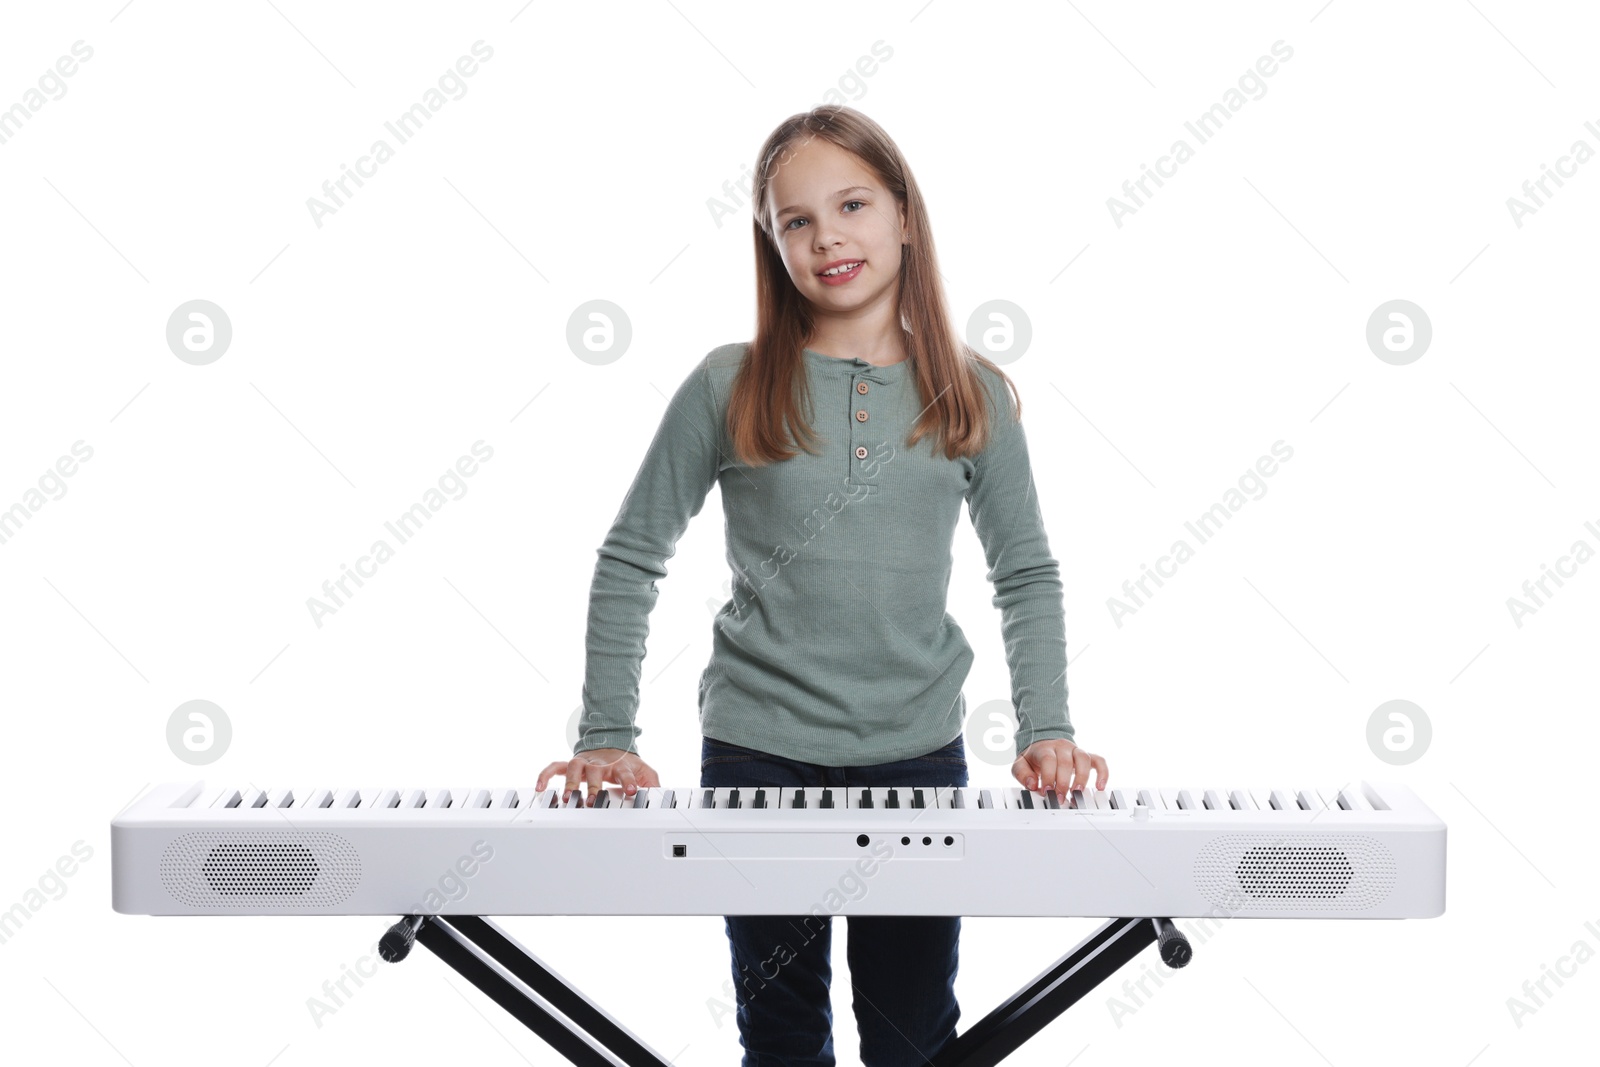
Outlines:
{"type": "Polygon", "coordinates": [[[789,280],[818,310],[898,299],[906,213],[859,158],[822,138],[790,147],[768,205],[789,280]]]}

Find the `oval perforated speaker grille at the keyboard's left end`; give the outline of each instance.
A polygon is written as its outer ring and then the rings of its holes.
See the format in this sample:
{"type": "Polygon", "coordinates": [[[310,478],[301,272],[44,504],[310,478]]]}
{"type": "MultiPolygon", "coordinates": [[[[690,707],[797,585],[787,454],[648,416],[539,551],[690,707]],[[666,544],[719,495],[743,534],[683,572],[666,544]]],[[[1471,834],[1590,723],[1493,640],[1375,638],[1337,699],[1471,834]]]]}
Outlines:
{"type": "Polygon", "coordinates": [[[360,880],[355,846],[315,830],[181,833],[162,853],[162,885],[190,907],[328,907],[360,880]]]}

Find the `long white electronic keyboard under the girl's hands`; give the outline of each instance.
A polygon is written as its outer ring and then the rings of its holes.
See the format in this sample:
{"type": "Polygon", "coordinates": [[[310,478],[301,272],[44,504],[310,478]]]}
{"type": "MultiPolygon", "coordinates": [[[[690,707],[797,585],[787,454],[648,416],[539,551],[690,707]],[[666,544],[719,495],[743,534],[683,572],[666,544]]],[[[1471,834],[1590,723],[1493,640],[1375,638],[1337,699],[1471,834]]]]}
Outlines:
{"type": "Polygon", "coordinates": [[[1056,915],[1430,918],[1445,824],[1400,784],[1117,789],[158,785],[112,821],[138,915],[1056,915]],[[448,795],[448,806],[446,803],[448,795]],[[237,797],[237,800],[235,800],[237,797]],[[227,806],[232,801],[234,806],[227,806]],[[574,803],[576,801],[576,803],[574,803]],[[637,803],[635,803],[637,801],[637,803]],[[1077,801],[1078,806],[1074,806],[1077,801]],[[864,843],[862,843],[864,841],[864,843]]]}

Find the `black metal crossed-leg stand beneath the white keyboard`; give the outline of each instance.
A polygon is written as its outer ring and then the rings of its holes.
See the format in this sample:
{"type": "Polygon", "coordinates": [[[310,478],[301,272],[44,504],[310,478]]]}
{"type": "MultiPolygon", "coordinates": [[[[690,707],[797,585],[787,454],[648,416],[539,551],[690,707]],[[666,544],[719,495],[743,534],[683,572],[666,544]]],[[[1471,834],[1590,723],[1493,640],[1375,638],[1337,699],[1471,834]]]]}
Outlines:
{"type": "MultiPolygon", "coordinates": [[[[669,1061],[486,918],[408,915],[382,936],[378,955],[398,963],[414,941],[421,941],[578,1067],[616,1067],[618,1062],[670,1067],[669,1061]]],[[[1189,939],[1170,918],[1109,918],[1072,952],[939,1049],[933,1067],[994,1067],[1150,942],[1160,942],[1160,955],[1168,966],[1189,963],[1189,939]]]]}

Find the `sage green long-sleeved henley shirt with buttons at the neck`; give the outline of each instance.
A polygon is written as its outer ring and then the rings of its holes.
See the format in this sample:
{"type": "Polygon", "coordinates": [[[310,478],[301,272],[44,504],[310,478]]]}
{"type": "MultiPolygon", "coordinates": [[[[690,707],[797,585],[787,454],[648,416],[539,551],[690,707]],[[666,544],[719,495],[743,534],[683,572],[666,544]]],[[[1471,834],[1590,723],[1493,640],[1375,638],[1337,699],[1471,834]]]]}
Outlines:
{"type": "Polygon", "coordinates": [[[714,349],[685,378],[600,545],[574,753],[638,750],[656,582],[712,485],[733,597],[699,680],[702,734],[824,766],[904,760],[955,739],[973,649],[946,593],[965,502],[1000,609],[1016,750],[1070,739],[1061,568],[1005,382],[979,368],[990,443],[946,459],[931,438],[906,445],[923,408],[910,360],[875,366],[806,349],[819,454],[750,467],[734,461],[725,424],[746,349],[714,349]]]}

